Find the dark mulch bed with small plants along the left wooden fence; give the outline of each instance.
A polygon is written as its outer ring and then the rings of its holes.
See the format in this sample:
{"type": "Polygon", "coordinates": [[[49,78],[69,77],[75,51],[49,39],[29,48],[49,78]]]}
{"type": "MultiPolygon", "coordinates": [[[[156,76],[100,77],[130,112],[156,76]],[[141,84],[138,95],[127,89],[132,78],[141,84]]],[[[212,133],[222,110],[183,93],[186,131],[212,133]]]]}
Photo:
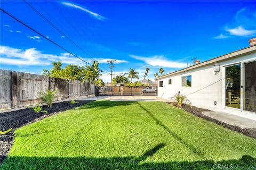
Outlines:
{"type": "Polygon", "coordinates": [[[62,111],[67,111],[71,108],[82,106],[94,100],[76,101],[78,101],[78,103],[76,104],[70,104],[70,101],[54,103],[52,104],[51,108],[43,106],[42,111],[47,111],[48,114],[35,113],[33,108],[19,109],[18,111],[0,113],[0,130],[5,131],[7,129],[13,128],[11,132],[0,135],[0,165],[5,159],[5,157],[8,155],[9,150],[13,145],[14,131],[16,129],[20,128],[21,126],[37,122],[51,115],[58,114],[62,111]]]}

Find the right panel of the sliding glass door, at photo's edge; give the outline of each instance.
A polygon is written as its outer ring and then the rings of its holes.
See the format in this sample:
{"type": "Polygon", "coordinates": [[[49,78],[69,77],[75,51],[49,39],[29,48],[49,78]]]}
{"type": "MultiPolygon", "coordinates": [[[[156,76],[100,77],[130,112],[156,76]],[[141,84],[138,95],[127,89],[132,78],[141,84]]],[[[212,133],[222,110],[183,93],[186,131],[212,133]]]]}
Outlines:
{"type": "Polygon", "coordinates": [[[244,63],[244,111],[256,112],[256,61],[244,63]]]}

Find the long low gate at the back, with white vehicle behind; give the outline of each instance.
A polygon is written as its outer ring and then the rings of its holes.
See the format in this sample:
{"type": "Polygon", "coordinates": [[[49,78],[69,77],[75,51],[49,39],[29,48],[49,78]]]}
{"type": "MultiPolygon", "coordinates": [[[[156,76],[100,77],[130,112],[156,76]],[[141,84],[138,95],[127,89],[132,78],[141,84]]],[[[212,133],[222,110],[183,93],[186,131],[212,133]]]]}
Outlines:
{"type": "Polygon", "coordinates": [[[156,96],[157,87],[127,87],[127,86],[103,86],[99,90],[100,96],[156,96]]]}

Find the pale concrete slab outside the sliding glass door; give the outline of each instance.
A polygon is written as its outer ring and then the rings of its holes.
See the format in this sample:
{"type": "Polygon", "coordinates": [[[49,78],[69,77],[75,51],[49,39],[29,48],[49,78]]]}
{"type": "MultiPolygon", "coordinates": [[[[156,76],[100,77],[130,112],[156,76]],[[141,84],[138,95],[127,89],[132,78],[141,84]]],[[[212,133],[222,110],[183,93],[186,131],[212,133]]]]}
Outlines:
{"type": "Polygon", "coordinates": [[[225,122],[230,125],[238,126],[242,129],[246,128],[256,128],[256,121],[244,118],[241,116],[236,116],[232,114],[228,114],[225,112],[203,112],[205,116],[214,118],[221,122],[225,122]]]}

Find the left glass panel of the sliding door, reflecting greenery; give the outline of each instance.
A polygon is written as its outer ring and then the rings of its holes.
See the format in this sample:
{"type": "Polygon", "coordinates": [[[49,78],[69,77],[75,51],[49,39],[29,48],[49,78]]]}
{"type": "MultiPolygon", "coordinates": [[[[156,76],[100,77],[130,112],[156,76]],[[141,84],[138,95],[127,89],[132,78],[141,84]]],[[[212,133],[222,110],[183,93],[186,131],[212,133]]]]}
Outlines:
{"type": "Polygon", "coordinates": [[[225,106],[241,108],[241,64],[226,67],[225,106]]]}

